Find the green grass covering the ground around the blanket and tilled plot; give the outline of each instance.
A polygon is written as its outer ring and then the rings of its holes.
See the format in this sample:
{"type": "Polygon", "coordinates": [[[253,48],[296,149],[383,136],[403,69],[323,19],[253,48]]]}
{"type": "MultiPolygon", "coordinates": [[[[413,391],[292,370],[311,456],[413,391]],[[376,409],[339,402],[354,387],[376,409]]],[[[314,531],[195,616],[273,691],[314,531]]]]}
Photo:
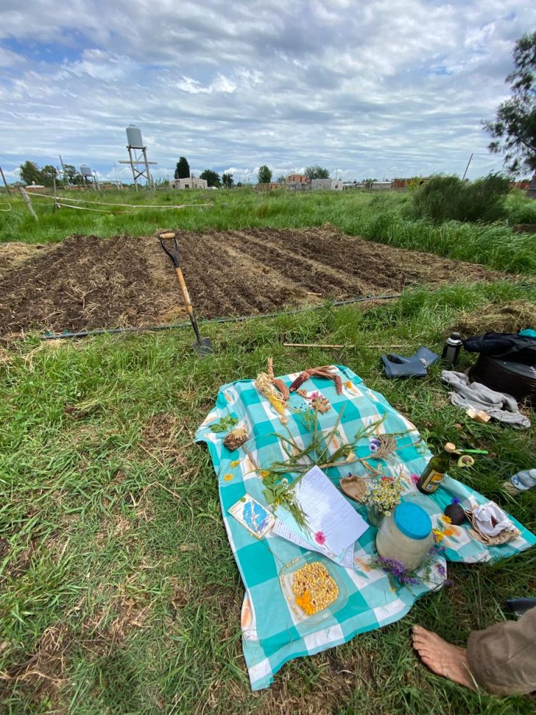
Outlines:
{"type": "MultiPolygon", "coordinates": [[[[184,200],[172,194],[177,197],[184,200]]],[[[17,199],[11,215],[1,215],[0,240],[329,221],[348,233],[527,276],[536,265],[530,235],[514,235],[506,225],[425,226],[405,217],[406,200],[398,195],[257,199],[244,190],[188,199],[216,205],[205,212],[88,217],[69,209],[54,215],[39,204],[37,226],[17,199]]],[[[1,711],[532,713],[531,697],[472,694],[430,674],[411,649],[410,627],[422,623],[465,644],[472,629],[505,617],[505,598],[535,595],[534,551],[492,567],[450,566],[452,586],[417,602],[402,621],[292,661],[269,690],[252,694],[240,644],[242,584],[212,465],[206,450],[192,443],[219,385],[254,378],[269,356],[277,373],[343,363],[407,415],[432,449],[448,439],[489,450],[460,476],[534,531],[536,493],[511,498],[502,489],[512,473],[535,466],[534,428],[518,433],[472,422],[450,405],[438,365],[425,380],[385,380],[382,350],[369,347],[407,345],[402,354],[420,345],[440,350],[462,312],[500,309],[512,300],[536,304],[535,285],[527,278],[455,285],[408,291],[367,310],[327,304],[269,320],[206,323],[216,353],[204,361],[192,354],[192,336],[184,330],[54,344],[30,336],[1,347],[1,711]],[[357,347],[302,350],[283,342],[357,347]]]]}

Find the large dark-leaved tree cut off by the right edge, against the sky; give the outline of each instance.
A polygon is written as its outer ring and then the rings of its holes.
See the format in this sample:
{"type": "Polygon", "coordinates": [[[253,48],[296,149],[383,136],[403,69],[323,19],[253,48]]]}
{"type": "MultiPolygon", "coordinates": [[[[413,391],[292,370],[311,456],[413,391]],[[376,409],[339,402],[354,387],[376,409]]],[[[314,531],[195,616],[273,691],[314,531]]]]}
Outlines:
{"type": "Polygon", "coordinates": [[[536,172],[536,32],[517,40],[515,69],[506,78],[512,97],[502,102],[494,122],[484,122],[493,137],[489,148],[505,155],[505,166],[518,174],[536,172]]]}

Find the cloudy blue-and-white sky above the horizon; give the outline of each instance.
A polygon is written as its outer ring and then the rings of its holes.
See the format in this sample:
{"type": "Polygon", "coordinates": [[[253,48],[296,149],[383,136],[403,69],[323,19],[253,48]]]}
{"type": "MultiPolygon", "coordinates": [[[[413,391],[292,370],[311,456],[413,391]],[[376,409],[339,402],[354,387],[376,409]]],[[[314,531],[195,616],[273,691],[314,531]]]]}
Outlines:
{"type": "MultiPolygon", "coordinates": [[[[480,120],[505,99],[534,0],[0,0],[0,165],[114,177],[125,127],[154,176],[322,164],[346,179],[499,169],[480,120]]],[[[117,164],[117,169],[120,165],[117,164]]],[[[121,178],[128,177],[128,168],[121,178]]]]}

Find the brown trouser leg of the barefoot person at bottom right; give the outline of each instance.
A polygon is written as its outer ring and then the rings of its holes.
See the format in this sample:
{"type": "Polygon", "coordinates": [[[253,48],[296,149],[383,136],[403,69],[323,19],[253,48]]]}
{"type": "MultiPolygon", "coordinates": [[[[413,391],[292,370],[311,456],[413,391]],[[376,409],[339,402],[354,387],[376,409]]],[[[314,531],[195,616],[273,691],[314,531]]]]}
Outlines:
{"type": "Polygon", "coordinates": [[[473,631],[467,660],[477,683],[497,695],[536,690],[536,607],[519,621],[504,621],[473,631]]]}

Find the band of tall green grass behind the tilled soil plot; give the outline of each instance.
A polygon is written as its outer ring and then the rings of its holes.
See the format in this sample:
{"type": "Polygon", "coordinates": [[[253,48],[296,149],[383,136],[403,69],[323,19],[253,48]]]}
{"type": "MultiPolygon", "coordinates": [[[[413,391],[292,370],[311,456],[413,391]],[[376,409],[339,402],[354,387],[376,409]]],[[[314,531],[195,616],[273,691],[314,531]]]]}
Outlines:
{"type": "MultiPolygon", "coordinates": [[[[80,194],[76,194],[79,198],[80,194]]],[[[0,242],[47,243],[73,233],[109,237],[120,233],[150,235],[159,228],[189,231],[238,230],[246,227],[278,229],[332,223],[349,235],[389,245],[435,253],[444,257],[480,263],[497,270],[534,275],[535,239],[516,234],[506,221],[435,224],[412,216],[409,193],[387,192],[271,192],[257,195],[253,189],[218,192],[110,192],[93,194],[88,200],[138,204],[197,204],[211,207],[185,209],[139,209],[135,213],[100,214],[74,209],[54,213],[48,199],[32,199],[39,224],[29,215],[22,199],[11,200],[13,210],[0,214],[0,242]]],[[[4,199],[4,197],[2,197],[4,199]]],[[[104,207],[106,208],[106,207],[104,207]]],[[[122,210],[118,207],[116,210],[122,210]]],[[[510,223],[536,222],[536,202],[513,192],[507,199],[510,223]]]]}

